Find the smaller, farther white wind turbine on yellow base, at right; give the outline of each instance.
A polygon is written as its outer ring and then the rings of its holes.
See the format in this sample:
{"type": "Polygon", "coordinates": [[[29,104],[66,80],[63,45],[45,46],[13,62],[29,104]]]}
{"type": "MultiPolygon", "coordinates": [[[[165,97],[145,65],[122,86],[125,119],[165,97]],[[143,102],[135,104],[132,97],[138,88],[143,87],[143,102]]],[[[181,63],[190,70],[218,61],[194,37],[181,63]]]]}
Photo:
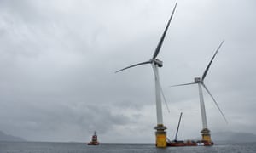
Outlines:
{"type": "MultiPolygon", "coordinates": [[[[207,72],[209,71],[209,68],[212,65],[212,60],[215,58],[216,54],[218,53],[219,48],[222,46],[223,43],[224,43],[224,41],[221,42],[220,45],[218,46],[215,54],[213,55],[212,59],[210,60],[209,64],[207,65],[207,68],[204,71],[202,77],[195,77],[195,79],[194,79],[195,82],[174,85],[174,86],[185,86],[185,85],[191,85],[191,84],[198,84],[199,99],[200,99],[200,106],[201,106],[201,120],[202,120],[202,127],[203,127],[203,129],[201,130],[202,140],[205,141],[205,142],[209,142],[209,143],[212,143],[212,140],[211,140],[210,130],[207,127],[207,114],[206,114],[206,108],[205,108],[205,103],[204,103],[204,98],[203,98],[203,93],[202,93],[201,86],[206,89],[207,93],[211,96],[215,105],[218,107],[218,111],[220,111],[221,115],[224,117],[225,122],[227,122],[227,119],[225,118],[224,113],[220,110],[220,108],[218,106],[218,103],[213,98],[212,94],[210,93],[206,84],[204,83],[204,80],[207,77],[207,72]]],[[[174,87],[174,86],[171,86],[171,87],[174,87]]]]}

